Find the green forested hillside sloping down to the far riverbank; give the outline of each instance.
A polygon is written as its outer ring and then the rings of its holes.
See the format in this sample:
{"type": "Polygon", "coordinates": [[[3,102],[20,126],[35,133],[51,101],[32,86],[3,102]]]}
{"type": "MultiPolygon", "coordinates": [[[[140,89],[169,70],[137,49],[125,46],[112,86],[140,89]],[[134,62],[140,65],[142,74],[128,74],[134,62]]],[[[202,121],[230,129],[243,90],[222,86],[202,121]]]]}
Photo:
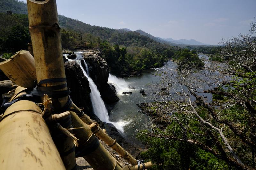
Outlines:
{"type": "MultiPolygon", "coordinates": [[[[0,51],[26,49],[31,41],[26,4],[17,0],[0,2],[0,51]]],[[[111,71],[119,75],[160,67],[166,57],[170,58],[179,49],[135,31],[91,26],[63,15],[59,15],[59,22],[63,48],[79,50],[99,47],[111,71]]]]}

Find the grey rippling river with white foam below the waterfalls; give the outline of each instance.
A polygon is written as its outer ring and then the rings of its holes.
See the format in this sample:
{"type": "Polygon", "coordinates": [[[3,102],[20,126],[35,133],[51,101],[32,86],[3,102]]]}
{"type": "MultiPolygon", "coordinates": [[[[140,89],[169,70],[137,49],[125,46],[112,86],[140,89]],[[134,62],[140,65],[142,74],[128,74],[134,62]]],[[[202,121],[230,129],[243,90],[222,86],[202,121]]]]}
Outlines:
{"type": "MultiPolygon", "coordinates": [[[[77,59],[82,58],[81,52],[75,52],[75,54],[77,55],[77,59]]],[[[207,55],[199,54],[199,57],[205,60],[205,66],[209,67],[212,64],[212,62],[207,61],[207,55]]],[[[136,119],[137,122],[143,124],[149,120],[147,115],[140,113],[140,108],[137,106],[137,104],[150,101],[148,99],[148,94],[150,93],[148,85],[159,82],[160,74],[167,72],[171,73],[173,78],[179,76],[177,74],[176,68],[177,64],[169,60],[168,62],[164,63],[163,67],[143,70],[138,76],[117,78],[116,76],[110,74],[108,82],[112,83],[116,87],[117,95],[120,101],[110,105],[111,111],[109,112],[108,121],[105,120],[105,122],[114,122],[113,124],[116,126],[116,123],[118,122],[117,128],[123,134],[123,136],[134,141],[134,129],[130,127],[129,122],[132,122],[134,119],[136,119]],[[134,87],[134,89],[129,88],[129,86],[134,87]],[[140,89],[143,89],[147,96],[143,96],[139,92],[140,89]],[[124,91],[132,92],[132,94],[122,94],[124,91]]],[[[194,73],[194,76],[204,80],[204,82],[211,82],[212,74],[214,73],[205,68],[194,73]]],[[[202,90],[206,90],[209,88],[209,84],[206,83],[203,85],[203,87],[204,88],[202,90]]],[[[175,95],[175,93],[173,93],[173,95],[175,95]]],[[[201,93],[200,95],[208,99],[208,102],[212,102],[211,94],[201,93]]]]}

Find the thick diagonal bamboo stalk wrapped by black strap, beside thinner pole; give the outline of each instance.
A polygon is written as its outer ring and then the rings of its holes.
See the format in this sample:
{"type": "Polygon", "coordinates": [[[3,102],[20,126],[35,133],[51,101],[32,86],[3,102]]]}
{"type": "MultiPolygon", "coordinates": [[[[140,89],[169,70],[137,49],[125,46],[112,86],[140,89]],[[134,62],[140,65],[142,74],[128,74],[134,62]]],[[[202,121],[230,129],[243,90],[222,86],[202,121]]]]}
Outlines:
{"type": "Polygon", "coordinates": [[[83,129],[73,129],[73,133],[79,139],[78,150],[81,151],[83,148],[87,148],[84,153],[86,154],[83,158],[92,166],[94,170],[121,170],[123,169],[117,160],[110,155],[110,153],[99,143],[99,146],[93,150],[89,151],[89,148],[93,147],[95,141],[98,141],[98,138],[92,134],[89,125],[84,123],[75,112],[70,111],[72,125],[76,128],[83,127],[83,129]]]}

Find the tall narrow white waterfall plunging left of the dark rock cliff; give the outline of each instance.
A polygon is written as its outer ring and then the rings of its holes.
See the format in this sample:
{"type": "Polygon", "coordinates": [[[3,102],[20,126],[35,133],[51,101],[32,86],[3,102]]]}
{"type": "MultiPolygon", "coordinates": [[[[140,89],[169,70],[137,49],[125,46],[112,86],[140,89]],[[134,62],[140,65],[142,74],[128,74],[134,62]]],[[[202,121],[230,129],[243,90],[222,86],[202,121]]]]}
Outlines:
{"type": "Polygon", "coordinates": [[[90,78],[90,76],[89,76],[89,70],[88,70],[88,66],[87,66],[85,60],[84,59],[81,59],[81,60],[76,60],[76,62],[80,65],[84,75],[87,77],[87,79],[89,81],[89,85],[90,85],[90,89],[91,89],[90,98],[91,98],[94,114],[102,122],[112,123],[118,130],[120,130],[121,132],[124,132],[124,130],[123,130],[124,123],[122,121],[119,121],[119,122],[109,121],[108,110],[106,109],[104,101],[102,100],[102,98],[100,96],[100,92],[97,89],[97,86],[93,82],[92,78],[90,78]],[[84,70],[84,67],[81,64],[81,60],[84,62],[87,72],[84,70]]]}

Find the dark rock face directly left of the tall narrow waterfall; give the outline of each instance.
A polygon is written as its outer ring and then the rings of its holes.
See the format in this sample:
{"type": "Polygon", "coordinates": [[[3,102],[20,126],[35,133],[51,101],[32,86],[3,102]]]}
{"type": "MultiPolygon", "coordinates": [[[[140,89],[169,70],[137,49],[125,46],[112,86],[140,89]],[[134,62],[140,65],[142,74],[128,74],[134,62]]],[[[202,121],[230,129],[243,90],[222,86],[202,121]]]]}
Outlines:
{"type": "MultiPolygon", "coordinates": [[[[84,108],[84,113],[92,112],[90,99],[90,87],[87,78],[84,76],[78,63],[68,61],[64,63],[70,97],[79,108],[84,108]]],[[[90,115],[90,114],[89,114],[90,115]]]]}

